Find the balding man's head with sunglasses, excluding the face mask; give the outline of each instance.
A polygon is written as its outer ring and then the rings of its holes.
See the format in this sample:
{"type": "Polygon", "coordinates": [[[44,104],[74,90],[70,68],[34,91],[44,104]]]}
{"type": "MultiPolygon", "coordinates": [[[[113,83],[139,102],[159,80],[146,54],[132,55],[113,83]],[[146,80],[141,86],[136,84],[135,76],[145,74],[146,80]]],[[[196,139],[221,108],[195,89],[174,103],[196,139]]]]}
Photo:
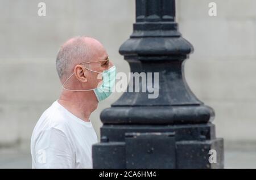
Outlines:
{"type": "Polygon", "coordinates": [[[56,58],[56,69],[61,83],[73,73],[65,85],[69,89],[97,88],[101,79],[93,71],[102,72],[111,66],[112,62],[108,61],[104,46],[91,37],[71,38],[61,46],[56,58]]]}

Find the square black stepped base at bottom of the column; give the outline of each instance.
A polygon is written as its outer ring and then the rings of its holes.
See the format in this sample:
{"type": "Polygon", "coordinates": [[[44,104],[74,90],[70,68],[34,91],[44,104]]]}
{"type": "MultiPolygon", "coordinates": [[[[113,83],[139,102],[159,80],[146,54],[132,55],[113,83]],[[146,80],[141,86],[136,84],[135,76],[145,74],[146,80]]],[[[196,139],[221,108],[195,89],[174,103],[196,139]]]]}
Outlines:
{"type": "Polygon", "coordinates": [[[101,137],[93,168],[224,168],[224,142],[212,123],[104,125],[101,137]]]}

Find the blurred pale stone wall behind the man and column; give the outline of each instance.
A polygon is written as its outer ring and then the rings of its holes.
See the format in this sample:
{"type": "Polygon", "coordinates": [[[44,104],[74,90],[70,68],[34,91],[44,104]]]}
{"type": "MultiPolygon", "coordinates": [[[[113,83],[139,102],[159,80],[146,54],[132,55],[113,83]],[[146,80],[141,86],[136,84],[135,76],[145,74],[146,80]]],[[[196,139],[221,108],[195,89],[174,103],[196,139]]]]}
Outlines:
{"type": "MultiPolygon", "coordinates": [[[[185,78],[214,108],[217,136],[228,144],[256,144],[254,7],[254,0],[176,1],[180,32],[195,48],[185,63],[185,78]],[[217,16],[208,15],[209,2],[217,3],[217,16]]],[[[55,57],[68,38],[97,38],[117,70],[128,73],[118,49],[134,21],[133,0],[0,0],[0,148],[30,151],[36,122],[59,97],[55,57]],[[39,2],[46,3],[46,16],[38,16],[39,2]]],[[[98,135],[101,110],[119,96],[114,93],[92,114],[98,135]]]]}

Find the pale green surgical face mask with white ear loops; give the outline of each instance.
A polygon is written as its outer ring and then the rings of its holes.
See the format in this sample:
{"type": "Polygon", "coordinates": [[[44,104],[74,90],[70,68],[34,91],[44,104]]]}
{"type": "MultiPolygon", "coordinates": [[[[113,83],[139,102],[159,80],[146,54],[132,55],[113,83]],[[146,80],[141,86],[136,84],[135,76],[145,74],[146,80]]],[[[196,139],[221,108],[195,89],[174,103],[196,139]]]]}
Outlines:
{"type": "Polygon", "coordinates": [[[64,88],[65,83],[67,83],[68,80],[71,78],[71,76],[74,74],[74,73],[72,73],[68,77],[68,79],[65,80],[65,82],[63,83],[63,85],[62,85],[63,89],[65,89],[67,91],[93,91],[99,102],[102,100],[105,100],[105,98],[109,97],[111,95],[111,93],[113,92],[113,87],[115,85],[115,76],[117,75],[117,70],[116,70],[115,66],[112,66],[108,70],[105,70],[103,72],[93,71],[87,67],[85,67],[85,68],[88,69],[89,71],[102,74],[103,82],[100,85],[100,87],[97,87],[94,89],[80,89],[80,90],[64,88]]]}

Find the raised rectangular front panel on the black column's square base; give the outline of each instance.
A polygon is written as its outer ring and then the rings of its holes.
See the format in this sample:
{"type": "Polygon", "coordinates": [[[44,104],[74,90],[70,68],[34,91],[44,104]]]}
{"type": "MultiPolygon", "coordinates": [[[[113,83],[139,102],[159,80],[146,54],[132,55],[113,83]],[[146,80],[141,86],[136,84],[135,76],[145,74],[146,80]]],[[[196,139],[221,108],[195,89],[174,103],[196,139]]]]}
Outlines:
{"type": "Polygon", "coordinates": [[[175,136],[171,132],[125,134],[126,168],[175,168],[175,136]],[[165,148],[162,148],[162,147],[165,148]],[[162,162],[159,164],[158,162],[162,162]]]}

